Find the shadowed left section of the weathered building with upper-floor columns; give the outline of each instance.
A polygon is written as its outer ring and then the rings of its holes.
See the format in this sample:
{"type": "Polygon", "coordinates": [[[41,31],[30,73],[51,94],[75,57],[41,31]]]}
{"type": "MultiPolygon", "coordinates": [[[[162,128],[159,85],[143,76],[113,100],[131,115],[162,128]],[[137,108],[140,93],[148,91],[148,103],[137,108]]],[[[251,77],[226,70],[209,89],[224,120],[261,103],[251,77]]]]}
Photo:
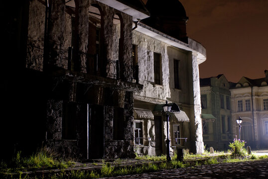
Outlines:
{"type": "Polygon", "coordinates": [[[14,9],[7,12],[6,50],[17,54],[5,62],[6,72],[11,67],[13,72],[4,82],[4,112],[20,103],[17,114],[1,121],[9,136],[6,151],[31,153],[43,145],[63,157],[134,157],[133,92],[142,85],[134,83],[132,28],[133,21],[149,15],[143,4],[22,0],[5,5],[14,9]]]}

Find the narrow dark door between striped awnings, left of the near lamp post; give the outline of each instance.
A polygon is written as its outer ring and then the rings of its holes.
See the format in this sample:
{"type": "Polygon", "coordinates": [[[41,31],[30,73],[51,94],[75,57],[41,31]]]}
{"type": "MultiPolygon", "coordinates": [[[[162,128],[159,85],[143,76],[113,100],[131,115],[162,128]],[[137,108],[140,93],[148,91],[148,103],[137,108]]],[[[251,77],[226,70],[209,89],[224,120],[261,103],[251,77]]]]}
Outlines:
{"type": "Polygon", "coordinates": [[[163,138],[162,138],[162,116],[154,116],[154,130],[155,130],[155,155],[163,154],[163,138]]]}

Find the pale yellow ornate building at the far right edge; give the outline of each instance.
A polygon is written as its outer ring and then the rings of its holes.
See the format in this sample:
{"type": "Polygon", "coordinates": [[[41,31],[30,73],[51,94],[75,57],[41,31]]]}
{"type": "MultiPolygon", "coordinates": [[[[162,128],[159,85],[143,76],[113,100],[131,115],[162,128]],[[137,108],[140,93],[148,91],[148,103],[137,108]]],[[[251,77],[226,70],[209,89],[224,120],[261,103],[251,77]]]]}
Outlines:
{"type": "Polygon", "coordinates": [[[268,71],[265,78],[242,77],[231,83],[233,134],[239,136],[236,120],[241,116],[241,139],[252,148],[268,147],[268,71]]]}

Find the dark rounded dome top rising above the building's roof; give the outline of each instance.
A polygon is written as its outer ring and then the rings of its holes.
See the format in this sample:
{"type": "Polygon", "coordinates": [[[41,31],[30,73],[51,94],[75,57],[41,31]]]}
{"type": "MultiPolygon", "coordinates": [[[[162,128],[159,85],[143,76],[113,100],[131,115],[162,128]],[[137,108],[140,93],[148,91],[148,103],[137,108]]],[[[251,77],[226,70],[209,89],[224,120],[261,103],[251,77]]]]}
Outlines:
{"type": "Polygon", "coordinates": [[[146,8],[151,16],[186,18],[186,12],[179,0],[148,0],[146,8]]]}

